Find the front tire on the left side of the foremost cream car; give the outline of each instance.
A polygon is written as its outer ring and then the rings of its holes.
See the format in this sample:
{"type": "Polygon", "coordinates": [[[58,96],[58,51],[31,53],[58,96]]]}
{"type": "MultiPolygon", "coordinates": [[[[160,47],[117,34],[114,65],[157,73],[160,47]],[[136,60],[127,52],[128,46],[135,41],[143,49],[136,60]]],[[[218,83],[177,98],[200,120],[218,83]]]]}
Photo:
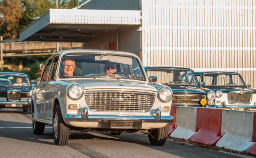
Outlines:
{"type": "Polygon", "coordinates": [[[53,112],[53,140],[56,145],[66,145],[69,140],[69,127],[63,121],[60,105],[56,105],[53,112]]]}

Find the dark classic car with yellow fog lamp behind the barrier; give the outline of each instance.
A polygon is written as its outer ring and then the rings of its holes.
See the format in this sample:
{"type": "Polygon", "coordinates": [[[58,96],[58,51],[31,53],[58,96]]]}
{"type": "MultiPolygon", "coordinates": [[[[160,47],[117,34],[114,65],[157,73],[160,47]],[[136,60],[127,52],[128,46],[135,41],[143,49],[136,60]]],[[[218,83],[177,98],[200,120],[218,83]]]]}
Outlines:
{"type": "Polygon", "coordinates": [[[172,105],[209,108],[214,106],[215,92],[202,88],[192,69],[173,66],[144,68],[151,82],[169,86],[173,90],[172,105]]]}

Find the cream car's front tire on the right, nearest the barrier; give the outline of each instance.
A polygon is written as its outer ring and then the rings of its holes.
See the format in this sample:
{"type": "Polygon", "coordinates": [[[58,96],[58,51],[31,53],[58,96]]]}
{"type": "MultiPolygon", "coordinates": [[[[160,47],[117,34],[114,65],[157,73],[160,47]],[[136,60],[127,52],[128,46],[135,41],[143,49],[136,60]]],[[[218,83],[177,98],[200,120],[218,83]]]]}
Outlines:
{"type": "Polygon", "coordinates": [[[166,143],[168,135],[168,123],[166,126],[159,129],[149,129],[148,134],[149,141],[152,145],[162,146],[166,143]]]}

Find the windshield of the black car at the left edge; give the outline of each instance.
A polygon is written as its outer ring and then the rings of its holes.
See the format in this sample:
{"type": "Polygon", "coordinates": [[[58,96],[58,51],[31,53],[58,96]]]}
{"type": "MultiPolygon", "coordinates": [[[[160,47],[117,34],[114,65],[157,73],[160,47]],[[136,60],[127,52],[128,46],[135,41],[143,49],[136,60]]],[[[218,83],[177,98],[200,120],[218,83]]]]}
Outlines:
{"type": "Polygon", "coordinates": [[[30,86],[29,79],[25,75],[0,75],[1,86],[30,86]]]}

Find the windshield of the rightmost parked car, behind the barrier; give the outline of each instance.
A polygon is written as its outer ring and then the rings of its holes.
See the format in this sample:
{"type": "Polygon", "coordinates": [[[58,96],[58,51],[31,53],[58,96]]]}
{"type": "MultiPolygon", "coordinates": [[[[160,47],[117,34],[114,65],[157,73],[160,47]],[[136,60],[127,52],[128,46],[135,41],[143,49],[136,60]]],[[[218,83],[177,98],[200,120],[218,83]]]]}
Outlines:
{"type": "Polygon", "coordinates": [[[245,86],[243,79],[233,73],[204,73],[205,86],[245,86]]]}

